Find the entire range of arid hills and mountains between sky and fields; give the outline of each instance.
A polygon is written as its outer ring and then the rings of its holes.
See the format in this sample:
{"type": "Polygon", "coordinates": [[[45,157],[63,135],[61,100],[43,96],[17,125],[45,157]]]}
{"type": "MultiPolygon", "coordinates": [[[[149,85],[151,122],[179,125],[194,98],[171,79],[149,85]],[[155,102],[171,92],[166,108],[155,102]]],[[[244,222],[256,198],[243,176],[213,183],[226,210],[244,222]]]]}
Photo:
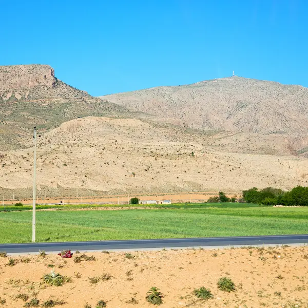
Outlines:
{"type": "Polygon", "coordinates": [[[57,80],[49,66],[4,66],[0,100],[7,199],[31,197],[33,126],[39,196],[240,194],[308,181],[300,86],[228,78],[100,99],[57,80]]]}

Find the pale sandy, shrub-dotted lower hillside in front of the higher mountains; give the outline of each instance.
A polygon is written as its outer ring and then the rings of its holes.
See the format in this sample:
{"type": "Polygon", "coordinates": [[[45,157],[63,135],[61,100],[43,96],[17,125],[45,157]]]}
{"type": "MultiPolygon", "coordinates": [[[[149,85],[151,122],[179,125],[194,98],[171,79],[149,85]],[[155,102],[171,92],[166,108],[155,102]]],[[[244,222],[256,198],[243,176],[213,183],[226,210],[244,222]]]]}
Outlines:
{"type": "MultiPolygon", "coordinates": [[[[38,196],[215,191],[306,185],[305,158],[284,139],[258,134],[199,134],[137,119],[88,117],[65,122],[38,140],[38,196]],[[267,151],[271,150],[272,155],[267,151]],[[262,154],[261,154],[262,153],[262,154]],[[273,155],[274,154],[274,155],[273,155]]],[[[31,197],[33,145],[4,152],[0,193],[31,197]],[[32,147],[31,147],[32,146],[32,147]]]]}

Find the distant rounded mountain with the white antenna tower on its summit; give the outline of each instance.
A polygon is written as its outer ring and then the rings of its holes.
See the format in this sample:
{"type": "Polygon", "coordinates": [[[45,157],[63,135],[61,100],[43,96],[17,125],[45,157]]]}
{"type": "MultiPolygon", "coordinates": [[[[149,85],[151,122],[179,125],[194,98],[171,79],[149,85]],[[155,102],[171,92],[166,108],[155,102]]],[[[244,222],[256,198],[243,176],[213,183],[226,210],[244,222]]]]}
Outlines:
{"type": "Polygon", "coordinates": [[[196,129],[306,134],[308,88],[241,77],[101,97],[196,129]]]}

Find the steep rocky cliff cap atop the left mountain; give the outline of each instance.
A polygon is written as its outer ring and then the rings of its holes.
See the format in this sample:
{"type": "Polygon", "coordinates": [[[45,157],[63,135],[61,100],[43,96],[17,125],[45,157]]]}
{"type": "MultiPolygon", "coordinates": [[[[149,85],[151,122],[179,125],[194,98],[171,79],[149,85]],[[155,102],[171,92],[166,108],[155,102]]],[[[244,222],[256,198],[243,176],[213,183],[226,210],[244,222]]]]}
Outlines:
{"type": "Polygon", "coordinates": [[[36,86],[54,87],[54,70],[49,65],[12,65],[0,66],[0,91],[36,86]]]}

